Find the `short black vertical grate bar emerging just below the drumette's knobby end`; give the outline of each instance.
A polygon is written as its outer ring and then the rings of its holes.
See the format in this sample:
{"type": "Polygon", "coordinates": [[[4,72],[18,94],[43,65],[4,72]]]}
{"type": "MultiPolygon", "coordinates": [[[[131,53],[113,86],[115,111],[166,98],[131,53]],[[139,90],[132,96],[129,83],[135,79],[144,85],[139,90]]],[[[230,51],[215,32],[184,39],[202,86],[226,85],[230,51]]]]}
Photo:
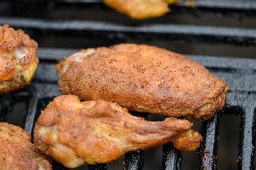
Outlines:
{"type": "Polygon", "coordinates": [[[180,154],[180,151],[176,150],[171,143],[165,144],[163,146],[163,161],[160,168],[161,170],[181,169],[181,161],[182,156],[180,154]]]}

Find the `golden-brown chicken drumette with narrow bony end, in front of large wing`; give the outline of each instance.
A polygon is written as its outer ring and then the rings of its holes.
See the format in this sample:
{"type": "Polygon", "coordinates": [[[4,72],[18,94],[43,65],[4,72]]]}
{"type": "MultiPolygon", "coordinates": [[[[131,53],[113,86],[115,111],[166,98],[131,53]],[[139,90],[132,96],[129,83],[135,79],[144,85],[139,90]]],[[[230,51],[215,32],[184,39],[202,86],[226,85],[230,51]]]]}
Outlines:
{"type": "Polygon", "coordinates": [[[177,118],[149,122],[103,100],[80,102],[77,96],[56,97],[34,129],[38,148],[66,167],[110,162],[126,152],[171,141],[185,151],[198,148],[202,137],[192,123],[177,118]]]}

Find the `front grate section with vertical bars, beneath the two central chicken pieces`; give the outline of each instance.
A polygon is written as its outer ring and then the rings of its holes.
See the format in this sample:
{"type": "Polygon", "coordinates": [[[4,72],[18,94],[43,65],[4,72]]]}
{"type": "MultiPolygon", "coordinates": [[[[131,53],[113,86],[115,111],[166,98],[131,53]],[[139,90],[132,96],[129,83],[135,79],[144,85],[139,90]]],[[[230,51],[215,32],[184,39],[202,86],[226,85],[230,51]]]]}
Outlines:
{"type": "MultiPolygon", "coordinates": [[[[76,50],[42,48],[38,51],[41,64],[38,67],[35,79],[22,91],[17,91],[8,95],[1,96],[0,118],[4,121],[4,115],[11,106],[21,100],[28,101],[28,109],[26,110],[25,130],[31,134],[35,118],[39,114],[39,110],[44,109],[47,103],[45,99],[51,99],[60,95],[56,81],[58,77],[53,69],[59,56],[66,56],[76,50]],[[51,55],[49,55],[51,54],[51,55]],[[49,56],[49,57],[47,57],[49,56]],[[47,61],[47,62],[45,62],[47,61]],[[49,62],[51,61],[51,62],[49,62]],[[44,74],[42,74],[44,73],[44,74]],[[44,104],[42,104],[42,102],[44,104]]],[[[254,122],[255,122],[255,66],[256,62],[252,59],[232,59],[217,58],[214,56],[189,56],[190,58],[202,63],[208,69],[225,79],[231,87],[227,93],[226,105],[224,111],[215,114],[210,121],[204,123],[204,131],[202,133],[204,140],[199,150],[200,169],[214,169],[217,165],[217,142],[219,117],[228,112],[229,114],[240,114],[240,143],[238,153],[239,169],[252,169],[254,157],[254,122]],[[232,59],[232,60],[230,60],[232,59]],[[239,78],[237,78],[239,76],[239,78]],[[246,78],[247,77],[247,78],[246,78]],[[241,79],[241,80],[240,80],[241,79]],[[251,80],[248,80],[251,79],[251,80]],[[247,81],[248,86],[239,86],[239,82],[247,81]]],[[[171,144],[163,146],[163,161],[161,169],[180,169],[181,154],[175,150],[171,144]]],[[[126,169],[142,169],[143,168],[143,152],[130,152],[125,155],[126,169]]],[[[53,161],[54,169],[66,169],[62,165],[53,161]]],[[[106,164],[89,166],[89,169],[106,169],[106,164]]]]}

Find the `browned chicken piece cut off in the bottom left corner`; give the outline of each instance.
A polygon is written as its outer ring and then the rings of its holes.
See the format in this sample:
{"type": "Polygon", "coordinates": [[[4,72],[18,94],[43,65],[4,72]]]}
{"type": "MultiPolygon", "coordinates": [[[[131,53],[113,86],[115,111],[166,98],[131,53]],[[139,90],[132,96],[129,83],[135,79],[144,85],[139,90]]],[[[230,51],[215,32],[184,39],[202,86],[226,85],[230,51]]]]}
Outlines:
{"type": "Polygon", "coordinates": [[[0,169],[52,169],[22,128],[0,122],[0,169]]]}

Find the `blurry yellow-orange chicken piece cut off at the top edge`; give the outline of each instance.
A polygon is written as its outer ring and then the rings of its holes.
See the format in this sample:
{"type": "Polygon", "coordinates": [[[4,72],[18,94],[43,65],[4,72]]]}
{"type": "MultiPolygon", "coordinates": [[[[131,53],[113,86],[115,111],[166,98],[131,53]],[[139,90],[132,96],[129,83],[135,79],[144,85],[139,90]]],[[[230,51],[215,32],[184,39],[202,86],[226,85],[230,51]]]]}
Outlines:
{"type": "Polygon", "coordinates": [[[133,19],[146,19],[163,16],[169,12],[168,4],[177,1],[179,0],[103,0],[103,3],[133,19]]]}

